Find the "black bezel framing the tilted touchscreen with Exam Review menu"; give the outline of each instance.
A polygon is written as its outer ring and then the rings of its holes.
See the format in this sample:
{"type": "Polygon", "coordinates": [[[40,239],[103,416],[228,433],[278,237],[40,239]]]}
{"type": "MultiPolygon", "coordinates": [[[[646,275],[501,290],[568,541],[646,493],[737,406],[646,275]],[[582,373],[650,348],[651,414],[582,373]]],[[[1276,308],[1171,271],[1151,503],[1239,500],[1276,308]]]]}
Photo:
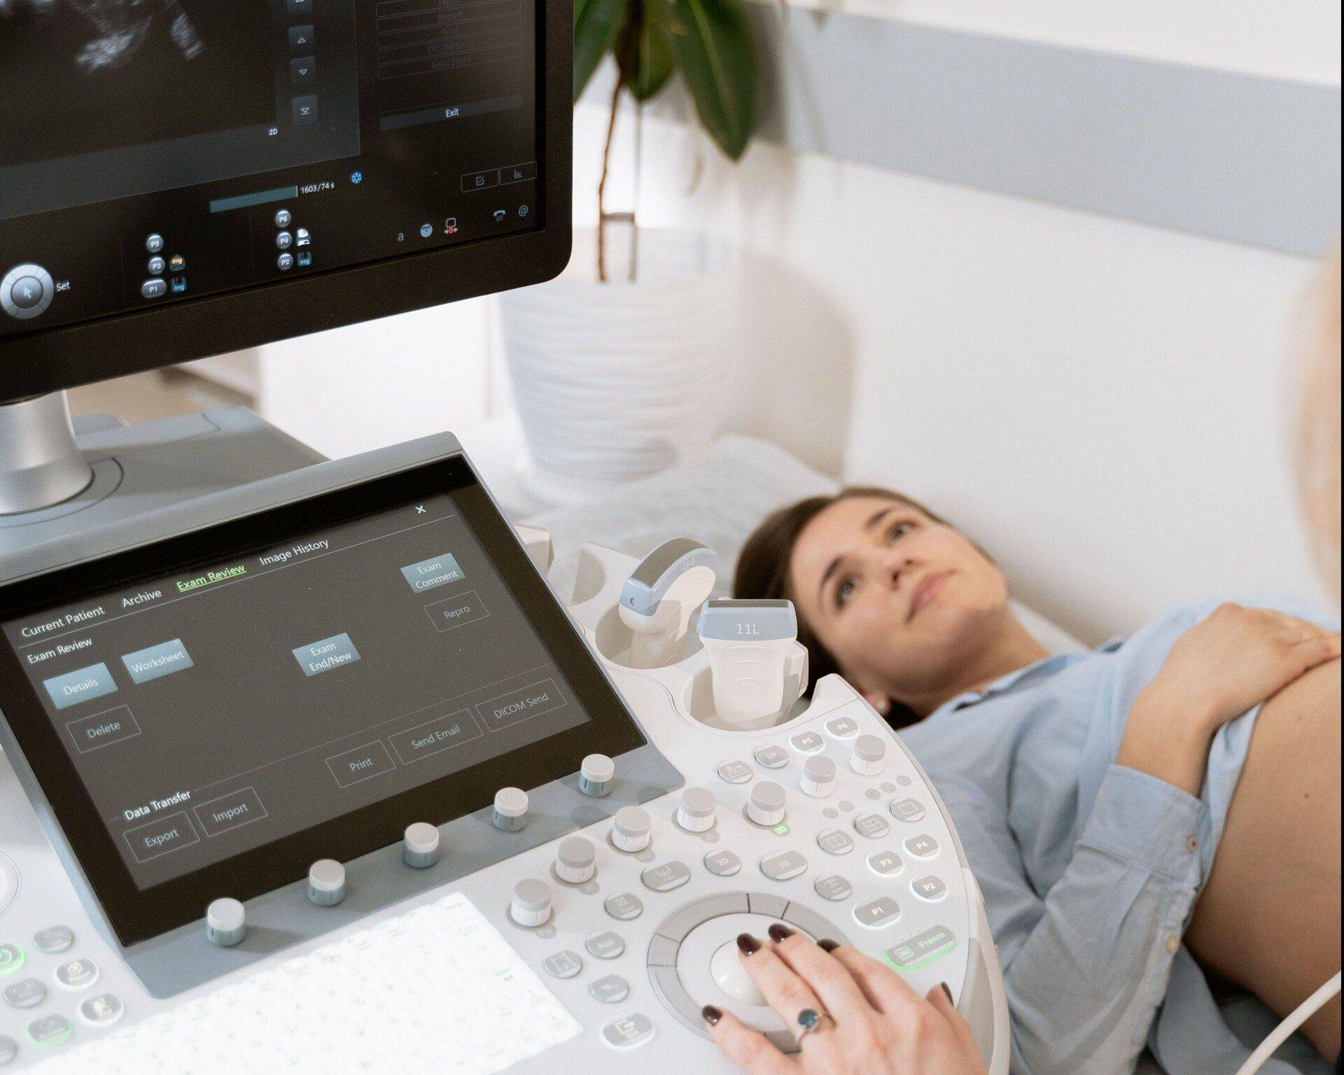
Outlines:
{"type": "Polygon", "coordinates": [[[222,556],[274,547],[439,492],[453,494],[591,719],[151,888],[136,886],[17,653],[8,640],[0,641],[4,719],[124,946],[199,919],[219,896],[250,899],[300,880],[317,859],[348,861],[394,844],[413,821],[444,824],[474,813],[501,786],[538,787],[575,773],[587,754],[617,757],[646,744],[564,607],[460,456],[11,583],[0,587],[0,619],[40,614],[196,564],[218,564],[222,556]]]}

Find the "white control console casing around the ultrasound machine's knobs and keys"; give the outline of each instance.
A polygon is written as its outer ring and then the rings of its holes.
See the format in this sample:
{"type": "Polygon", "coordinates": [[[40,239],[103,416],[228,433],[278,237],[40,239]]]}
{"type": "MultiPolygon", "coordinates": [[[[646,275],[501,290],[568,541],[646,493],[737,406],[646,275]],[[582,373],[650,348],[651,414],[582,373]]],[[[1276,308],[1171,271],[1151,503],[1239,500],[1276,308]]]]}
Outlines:
{"type": "MultiPolygon", "coordinates": [[[[356,1035],[379,1041],[379,1059],[364,1060],[360,1070],[493,1071],[454,1058],[452,1043],[435,1033],[433,1023],[410,1016],[388,1023],[388,1012],[399,1010],[403,988],[434,988],[434,982],[411,981],[418,974],[411,968],[402,981],[398,968],[386,961],[367,972],[352,965],[341,972],[345,977],[339,986],[335,977],[329,989],[323,982],[324,963],[335,976],[341,959],[358,959],[362,938],[410,929],[427,908],[457,906],[456,894],[461,894],[581,1028],[511,1071],[727,1075],[734,1067],[708,1040],[699,1015],[703,1004],[730,1008],[792,1047],[782,1021],[767,1008],[730,997],[711,972],[715,953],[739,933],[763,935],[770,923],[786,922],[814,939],[848,941],[878,958],[914,942],[902,957],[911,965],[903,972],[907,981],[921,993],[946,982],[974,1029],[991,1075],[1007,1075],[1008,1009],[984,906],[956,829],[918,763],[837,676],[817,684],[810,703],[796,705],[778,726],[743,731],[715,727],[707,654],[694,632],[664,668],[632,669],[607,657],[603,649],[617,638],[613,621],[620,624],[618,594],[634,563],[618,552],[586,547],[570,611],[646,736],[680,770],[687,786],[712,791],[712,828],[685,830],[676,822],[679,794],[661,794],[642,802],[652,816],[650,845],[625,853],[610,840],[616,806],[607,809],[606,798],[586,800],[591,809],[585,808],[582,817],[571,813],[579,824],[571,824],[569,834],[595,845],[595,873],[587,882],[570,884],[559,877],[554,868],[559,840],[551,840],[370,910],[362,892],[378,887],[380,871],[411,869],[401,845],[392,845],[344,864],[349,895],[340,906],[313,910],[306,879],[257,900],[306,904],[305,914],[332,915],[332,922],[344,924],[282,946],[259,962],[255,955],[239,961],[237,970],[185,992],[155,997],[81,899],[71,880],[79,867],[67,853],[58,855],[48,838],[55,822],[50,814],[40,816],[47,808],[30,798],[11,762],[0,757],[0,945],[11,942],[23,950],[13,973],[0,966],[0,992],[27,980],[36,980],[44,992],[31,1008],[0,1002],[0,1036],[20,1045],[8,1063],[0,1056],[0,1070],[8,1075],[8,1070],[44,1060],[51,1071],[206,1075],[239,1071],[241,1058],[261,1055],[274,1056],[277,1071],[340,1071],[351,1070],[343,1068],[351,1058],[341,1049],[356,1035]],[[860,775],[848,765],[853,739],[863,734],[890,743],[875,775],[860,775]],[[816,754],[836,765],[835,787],[825,797],[800,789],[802,765],[816,754]],[[785,820],[771,829],[746,817],[753,787],[765,781],[781,785],[788,796],[785,820]],[[894,804],[905,805],[894,812],[894,804]],[[907,845],[915,837],[918,855],[907,845]],[[884,873],[870,864],[874,856],[883,856],[884,873]],[[509,916],[515,886],[523,879],[550,886],[552,914],[542,927],[523,929],[509,916]],[[913,884],[921,880],[930,883],[923,891],[934,902],[917,895],[913,884]],[[633,896],[633,902],[617,900],[624,907],[620,916],[609,904],[618,896],[633,896]],[[882,899],[894,900],[899,916],[860,923],[860,908],[882,899]],[[642,910],[626,916],[636,906],[642,910]],[[36,938],[56,935],[44,933],[52,927],[66,927],[73,937],[65,947],[44,951],[36,938]],[[918,938],[934,938],[927,953],[917,951],[918,938]],[[313,954],[317,962],[309,958],[313,954]],[[71,972],[71,963],[79,966],[71,972]],[[296,978],[294,988],[302,986],[293,994],[298,1000],[286,1000],[289,994],[277,994],[273,1002],[239,1000],[249,980],[284,976],[294,968],[316,976],[306,982],[296,978]],[[601,984],[607,980],[618,980],[625,989],[609,988],[602,998],[601,984]],[[102,1025],[82,1005],[105,994],[120,1004],[120,1012],[113,1005],[116,1015],[102,1025]],[[51,1048],[40,1048],[26,1032],[48,1015],[69,1020],[73,1031],[51,1048]]],[[[620,789],[621,782],[617,769],[613,785],[620,789]]],[[[442,832],[441,861],[413,871],[417,875],[433,876],[445,860],[472,853],[453,845],[449,826],[442,832]]],[[[210,958],[233,958],[250,943],[219,950],[206,939],[203,923],[195,930],[210,958]]],[[[461,934],[464,943],[470,933],[461,934]]],[[[423,947],[426,942],[417,943],[423,947]]],[[[298,970],[294,974],[301,977],[298,970]]]]}

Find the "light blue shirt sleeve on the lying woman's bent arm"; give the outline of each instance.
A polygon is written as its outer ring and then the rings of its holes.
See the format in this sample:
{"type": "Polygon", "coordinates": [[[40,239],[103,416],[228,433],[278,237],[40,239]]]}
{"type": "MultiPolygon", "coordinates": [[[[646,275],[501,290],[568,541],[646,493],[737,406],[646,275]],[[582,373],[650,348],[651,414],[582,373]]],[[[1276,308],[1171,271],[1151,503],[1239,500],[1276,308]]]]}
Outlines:
{"type": "Polygon", "coordinates": [[[1013,1072],[1129,1075],[1198,892],[1207,806],[1113,765],[1068,867],[1042,899],[988,797],[960,779],[946,791],[1003,961],[1013,1072]]]}

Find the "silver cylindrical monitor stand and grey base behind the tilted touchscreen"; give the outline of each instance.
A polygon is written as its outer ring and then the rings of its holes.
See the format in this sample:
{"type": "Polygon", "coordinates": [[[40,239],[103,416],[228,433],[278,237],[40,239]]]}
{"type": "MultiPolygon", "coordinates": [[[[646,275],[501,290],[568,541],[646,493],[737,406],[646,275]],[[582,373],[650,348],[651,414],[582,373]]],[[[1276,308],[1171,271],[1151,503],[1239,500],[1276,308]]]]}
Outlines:
{"type": "Polygon", "coordinates": [[[246,407],[71,421],[65,392],[0,406],[0,580],[26,550],[321,462],[246,407]]]}

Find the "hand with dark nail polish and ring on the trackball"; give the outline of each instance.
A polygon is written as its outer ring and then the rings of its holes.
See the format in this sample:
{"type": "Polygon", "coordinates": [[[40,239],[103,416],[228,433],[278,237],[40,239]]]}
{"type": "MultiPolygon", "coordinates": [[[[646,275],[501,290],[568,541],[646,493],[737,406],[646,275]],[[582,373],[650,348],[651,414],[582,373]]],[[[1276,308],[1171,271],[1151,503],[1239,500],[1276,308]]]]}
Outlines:
{"type": "Polygon", "coordinates": [[[780,924],[763,945],[742,934],[738,950],[766,1001],[801,1035],[801,1052],[786,1056],[730,1012],[706,1008],[714,1040],[749,1075],[985,1075],[946,986],[921,997],[876,959],[780,924]]]}

